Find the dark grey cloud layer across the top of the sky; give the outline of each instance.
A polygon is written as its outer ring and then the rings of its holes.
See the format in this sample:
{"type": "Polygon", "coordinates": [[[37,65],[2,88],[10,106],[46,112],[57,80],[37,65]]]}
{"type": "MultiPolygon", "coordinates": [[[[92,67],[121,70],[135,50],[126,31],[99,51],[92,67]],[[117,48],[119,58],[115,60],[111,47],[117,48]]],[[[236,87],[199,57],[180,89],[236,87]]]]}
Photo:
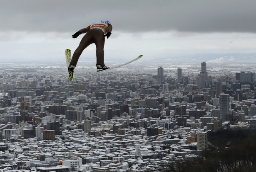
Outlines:
{"type": "Polygon", "coordinates": [[[0,0],[0,31],[74,32],[109,19],[116,31],[256,32],[255,0],[0,0]]]}

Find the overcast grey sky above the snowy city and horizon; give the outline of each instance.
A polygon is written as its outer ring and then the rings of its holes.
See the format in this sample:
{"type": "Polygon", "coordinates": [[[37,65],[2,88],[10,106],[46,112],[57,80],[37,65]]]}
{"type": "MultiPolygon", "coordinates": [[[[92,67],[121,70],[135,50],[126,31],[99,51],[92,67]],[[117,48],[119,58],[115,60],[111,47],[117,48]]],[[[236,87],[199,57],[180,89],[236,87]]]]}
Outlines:
{"type": "MultiPolygon", "coordinates": [[[[255,0],[0,0],[1,61],[65,61],[93,22],[108,19],[105,61],[256,53],[255,0]]],[[[95,61],[95,45],[79,61],[95,61]]],[[[221,58],[221,57],[220,57],[221,58]]],[[[79,64],[79,62],[78,62],[79,64]]],[[[106,64],[107,65],[107,64],[106,64]]]]}

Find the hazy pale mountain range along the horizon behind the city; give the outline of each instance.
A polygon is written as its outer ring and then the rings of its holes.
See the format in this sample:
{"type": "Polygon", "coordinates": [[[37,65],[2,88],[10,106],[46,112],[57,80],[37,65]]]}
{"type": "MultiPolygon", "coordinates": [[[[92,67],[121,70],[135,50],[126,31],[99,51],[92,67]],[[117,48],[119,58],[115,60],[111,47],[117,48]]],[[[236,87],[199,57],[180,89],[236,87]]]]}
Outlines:
{"type": "MultiPolygon", "coordinates": [[[[64,58],[46,58],[42,59],[34,59],[31,61],[22,60],[22,63],[39,63],[39,62],[58,62],[60,64],[66,65],[64,58]]],[[[82,57],[79,59],[79,63],[92,64],[94,65],[96,61],[95,57],[82,57]]],[[[128,60],[126,58],[106,58],[105,63],[113,64],[113,63],[125,63],[128,60]]],[[[151,56],[147,55],[143,56],[137,63],[171,63],[174,65],[180,64],[199,64],[202,61],[205,61],[208,65],[256,65],[256,53],[197,53],[197,54],[187,54],[187,55],[159,55],[159,56],[151,56]]],[[[7,63],[17,63],[17,61],[8,61],[7,63]]],[[[3,63],[6,63],[3,61],[3,63]]]]}

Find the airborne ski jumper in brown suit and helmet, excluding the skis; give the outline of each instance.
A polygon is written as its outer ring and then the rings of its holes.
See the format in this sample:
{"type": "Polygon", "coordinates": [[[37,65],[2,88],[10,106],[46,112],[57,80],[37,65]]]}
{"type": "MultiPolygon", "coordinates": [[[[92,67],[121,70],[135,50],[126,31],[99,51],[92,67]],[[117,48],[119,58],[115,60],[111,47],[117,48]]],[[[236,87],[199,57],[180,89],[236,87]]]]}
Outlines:
{"type": "Polygon", "coordinates": [[[105,43],[105,36],[109,38],[112,31],[112,25],[108,20],[102,20],[99,23],[93,23],[90,26],[77,31],[75,34],[72,35],[73,38],[77,38],[80,34],[85,34],[85,36],[80,41],[79,46],[75,50],[72,60],[70,61],[70,66],[68,68],[69,71],[72,73],[77,65],[77,61],[81,56],[84,49],[89,46],[90,44],[96,45],[96,57],[97,63],[96,67],[98,70],[105,70],[109,67],[105,66],[104,64],[104,43],[105,43]]]}

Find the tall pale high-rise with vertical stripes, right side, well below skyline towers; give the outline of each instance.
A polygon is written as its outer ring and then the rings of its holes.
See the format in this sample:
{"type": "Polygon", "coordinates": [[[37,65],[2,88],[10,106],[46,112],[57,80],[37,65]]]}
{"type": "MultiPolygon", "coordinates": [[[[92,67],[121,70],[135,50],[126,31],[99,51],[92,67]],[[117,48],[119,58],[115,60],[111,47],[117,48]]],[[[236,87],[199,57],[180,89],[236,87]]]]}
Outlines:
{"type": "Polygon", "coordinates": [[[223,121],[225,121],[226,114],[229,113],[229,94],[219,94],[219,109],[219,116],[223,121]]]}

